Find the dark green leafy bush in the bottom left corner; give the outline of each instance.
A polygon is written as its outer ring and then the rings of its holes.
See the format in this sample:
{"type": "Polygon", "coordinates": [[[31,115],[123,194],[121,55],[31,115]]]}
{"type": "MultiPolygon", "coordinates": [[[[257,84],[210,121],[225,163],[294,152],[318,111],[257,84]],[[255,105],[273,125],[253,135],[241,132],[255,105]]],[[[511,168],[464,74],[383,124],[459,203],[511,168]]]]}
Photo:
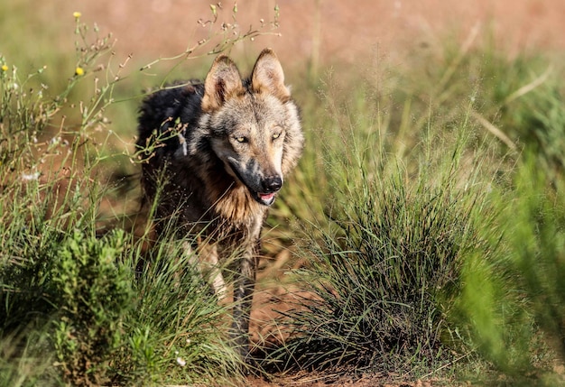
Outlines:
{"type": "Polygon", "coordinates": [[[42,366],[47,380],[61,374],[73,384],[106,382],[109,355],[122,344],[124,318],[135,306],[131,270],[120,264],[124,233],[97,239],[45,223],[12,227],[2,227],[3,235],[19,231],[0,266],[1,331],[10,348],[4,361],[29,356],[42,364],[35,357],[42,354],[51,358],[50,367],[42,366]]]}

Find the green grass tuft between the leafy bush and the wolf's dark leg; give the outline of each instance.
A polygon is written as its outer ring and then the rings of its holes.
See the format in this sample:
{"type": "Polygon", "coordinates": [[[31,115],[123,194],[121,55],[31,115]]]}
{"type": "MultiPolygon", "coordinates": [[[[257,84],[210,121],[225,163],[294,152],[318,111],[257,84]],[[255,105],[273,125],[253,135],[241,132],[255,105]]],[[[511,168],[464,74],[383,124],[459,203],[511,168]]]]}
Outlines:
{"type": "MultiPolygon", "coordinates": [[[[129,257],[139,257],[143,244],[129,257]]],[[[221,305],[196,267],[197,257],[166,236],[144,254],[132,281],[135,309],[124,346],[113,355],[115,382],[231,384],[243,368],[228,339],[229,305],[221,305]]]]}

